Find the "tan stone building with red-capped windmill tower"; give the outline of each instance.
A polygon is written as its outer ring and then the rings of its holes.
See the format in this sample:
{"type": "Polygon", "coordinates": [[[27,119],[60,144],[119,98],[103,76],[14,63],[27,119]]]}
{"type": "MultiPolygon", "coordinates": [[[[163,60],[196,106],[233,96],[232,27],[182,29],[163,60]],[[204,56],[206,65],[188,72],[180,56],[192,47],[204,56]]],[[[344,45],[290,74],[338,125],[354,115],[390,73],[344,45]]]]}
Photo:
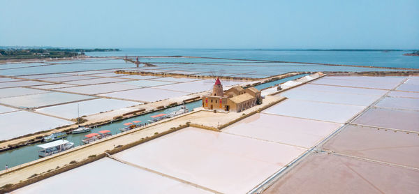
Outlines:
{"type": "Polygon", "coordinates": [[[232,87],[223,91],[223,84],[219,78],[216,79],[212,93],[203,96],[203,107],[207,110],[223,110],[241,112],[249,107],[262,103],[260,91],[254,87],[244,89],[242,87],[232,87]]]}

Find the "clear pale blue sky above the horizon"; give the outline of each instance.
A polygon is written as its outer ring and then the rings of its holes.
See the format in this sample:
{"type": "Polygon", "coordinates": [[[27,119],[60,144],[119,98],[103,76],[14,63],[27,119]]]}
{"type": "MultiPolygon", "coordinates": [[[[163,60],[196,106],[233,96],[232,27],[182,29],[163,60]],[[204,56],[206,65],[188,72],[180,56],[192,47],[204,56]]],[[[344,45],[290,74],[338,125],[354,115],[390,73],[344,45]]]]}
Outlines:
{"type": "Polygon", "coordinates": [[[419,48],[419,1],[0,0],[0,45],[419,48]]]}

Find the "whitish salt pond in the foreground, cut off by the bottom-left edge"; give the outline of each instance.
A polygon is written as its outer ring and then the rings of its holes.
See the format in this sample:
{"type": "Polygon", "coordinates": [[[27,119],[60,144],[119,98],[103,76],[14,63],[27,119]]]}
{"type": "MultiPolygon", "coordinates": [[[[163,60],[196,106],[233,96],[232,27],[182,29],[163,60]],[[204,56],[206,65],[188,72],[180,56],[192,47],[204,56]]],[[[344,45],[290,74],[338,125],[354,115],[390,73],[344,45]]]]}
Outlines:
{"type": "Polygon", "coordinates": [[[110,158],[57,174],[11,193],[211,193],[110,158]],[[83,180],[80,181],[80,177],[83,180]],[[71,189],[68,186],[71,185],[71,189]],[[64,189],[63,189],[64,188],[64,189]]]}

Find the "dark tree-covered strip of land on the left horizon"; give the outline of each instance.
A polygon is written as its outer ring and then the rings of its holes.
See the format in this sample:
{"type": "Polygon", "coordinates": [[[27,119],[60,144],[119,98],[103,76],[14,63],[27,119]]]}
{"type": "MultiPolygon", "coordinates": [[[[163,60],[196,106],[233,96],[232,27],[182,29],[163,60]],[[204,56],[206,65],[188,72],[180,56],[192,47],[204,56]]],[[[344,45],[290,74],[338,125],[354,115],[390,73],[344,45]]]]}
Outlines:
{"type": "Polygon", "coordinates": [[[119,49],[66,49],[66,48],[7,48],[0,49],[0,60],[6,59],[45,59],[84,56],[84,52],[110,52],[119,49]]]}

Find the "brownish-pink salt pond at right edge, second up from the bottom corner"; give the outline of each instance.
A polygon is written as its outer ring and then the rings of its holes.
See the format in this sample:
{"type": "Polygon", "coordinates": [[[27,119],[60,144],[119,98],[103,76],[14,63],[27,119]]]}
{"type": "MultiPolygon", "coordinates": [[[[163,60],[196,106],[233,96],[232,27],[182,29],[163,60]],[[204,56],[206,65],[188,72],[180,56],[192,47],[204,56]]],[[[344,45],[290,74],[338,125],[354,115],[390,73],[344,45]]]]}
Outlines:
{"type": "Polygon", "coordinates": [[[419,141],[415,133],[348,125],[323,145],[339,154],[419,167],[419,141]]]}

